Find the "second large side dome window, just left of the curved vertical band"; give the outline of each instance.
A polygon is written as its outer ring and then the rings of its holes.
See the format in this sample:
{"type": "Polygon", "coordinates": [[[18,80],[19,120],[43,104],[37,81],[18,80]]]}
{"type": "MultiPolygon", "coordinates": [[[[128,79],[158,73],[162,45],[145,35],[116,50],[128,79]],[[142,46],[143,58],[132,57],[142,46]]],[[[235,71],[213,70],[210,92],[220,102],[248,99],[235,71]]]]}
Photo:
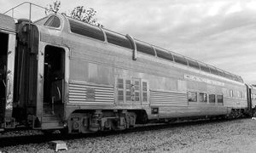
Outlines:
{"type": "Polygon", "coordinates": [[[132,48],[131,42],[125,36],[119,35],[112,31],[105,31],[105,32],[106,32],[107,40],[109,43],[113,43],[115,45],[119,45],[125,48],[132,48]]]}

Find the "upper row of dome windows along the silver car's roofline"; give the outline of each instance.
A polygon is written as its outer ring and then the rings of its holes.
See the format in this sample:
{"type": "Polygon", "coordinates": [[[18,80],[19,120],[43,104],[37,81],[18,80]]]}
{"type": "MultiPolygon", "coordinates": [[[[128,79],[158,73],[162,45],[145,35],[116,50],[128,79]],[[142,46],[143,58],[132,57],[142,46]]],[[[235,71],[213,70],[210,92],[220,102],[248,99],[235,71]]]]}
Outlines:
{"type": "MultiPolygon", "coordinates": [[[[101,28],[97,26],[92,26],[90,24],[84,24],[84,22],[79,21],[79,20],[73,20],[68,18],[69,24],[70,24],[70,30],[73,33],[85,36],[85,37],[90,37],[94,38],[97,40],[100,40],[102,42],[105,41],[104,33],[101,28]]],[[[47,20],[44,24],[45,26],[53,26],[53,27],[59,27],[60,26],[60,20],[56,16],[52,16],[47,20]]],[[[121,35],[119,33],[113,32],[113,31],[108,31],[104,29],[106,37],[107,37],[107,42],[112,43],[114,45],[118,45],[120,47],[124,48],[134,48],[133,45],[131,44],[131,41],[125,37],[124,35],[121,35]]],[[[205,64],[200,64],[196,60],[193,59],[188,59],[185,58],[182,55],[179,54],[171,54],[169,51],[161,48],[153,48],[150,44],[141,42],[138,40],[135,40],[136,46],[137,46],[137,51],[141,52],[143,54],[150,54],[153,56],[157,56],[161,59],[167,59],[174,61],[178,64],[181,65],[188,65],[190,67],[193,67],[197,70],[205,71],[208,73],[212,73],[217,76],[221,77],[226,77],[230,80],[234,80],[237,82],[243,82],[241,77],[238,77],[236,75],[230,74],[225,71],[218,70],[212,66],[208,66],[205,64]]]]}

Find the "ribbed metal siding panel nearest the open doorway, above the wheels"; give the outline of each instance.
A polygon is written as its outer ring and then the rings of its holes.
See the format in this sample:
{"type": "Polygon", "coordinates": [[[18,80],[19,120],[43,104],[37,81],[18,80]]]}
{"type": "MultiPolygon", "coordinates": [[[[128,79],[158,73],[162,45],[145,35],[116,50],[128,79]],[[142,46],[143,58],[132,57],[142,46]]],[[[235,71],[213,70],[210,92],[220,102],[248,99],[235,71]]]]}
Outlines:
{"type": "MultiPolygon", "coordinates": [[[[88,82],[69,82],[68,100],[72,104],[114,105],[113,87],[88,82]],[[93,99],[87,98],[87,89],[94,89],[93,99]]],[[[91,95],[91,93],[90,93],[91,95]]]]}

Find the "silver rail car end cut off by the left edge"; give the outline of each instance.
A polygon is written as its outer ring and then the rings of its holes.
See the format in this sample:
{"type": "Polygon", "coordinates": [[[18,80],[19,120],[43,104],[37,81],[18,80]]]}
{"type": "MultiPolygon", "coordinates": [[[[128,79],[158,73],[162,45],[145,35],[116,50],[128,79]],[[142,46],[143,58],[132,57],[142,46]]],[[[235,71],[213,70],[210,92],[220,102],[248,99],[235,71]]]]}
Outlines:
{"type": "Polygon", "coordinates": [[[13,128],[15,20],[0,14],[0,127],[13,128]]]}

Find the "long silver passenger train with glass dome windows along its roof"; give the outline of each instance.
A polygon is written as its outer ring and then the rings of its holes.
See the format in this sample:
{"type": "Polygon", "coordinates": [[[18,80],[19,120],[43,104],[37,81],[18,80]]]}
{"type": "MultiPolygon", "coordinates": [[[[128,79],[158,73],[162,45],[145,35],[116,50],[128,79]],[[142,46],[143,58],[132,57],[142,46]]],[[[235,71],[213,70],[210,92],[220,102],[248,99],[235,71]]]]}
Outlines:
{"type": "Polygon", "coordinates": [[[0,18],[2,128],[88,133],[251,108],[241,77],[129,35],[62,14],[0,18]]]}

